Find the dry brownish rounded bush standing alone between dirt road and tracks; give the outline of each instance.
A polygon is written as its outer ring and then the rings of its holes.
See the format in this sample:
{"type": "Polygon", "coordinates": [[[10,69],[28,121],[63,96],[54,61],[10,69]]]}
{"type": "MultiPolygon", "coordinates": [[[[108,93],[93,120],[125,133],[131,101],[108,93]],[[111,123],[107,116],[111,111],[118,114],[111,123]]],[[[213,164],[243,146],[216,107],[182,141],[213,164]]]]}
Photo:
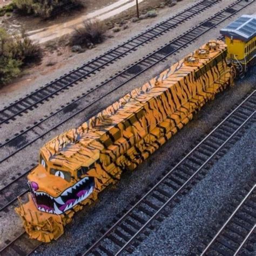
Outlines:
{"type": "Polygon", "coordinates": [[[73,32],[71,45],[87,46],[102,43],[105,39],[105,32],[106,28],[102,22],[88,19],[73,32]]]}

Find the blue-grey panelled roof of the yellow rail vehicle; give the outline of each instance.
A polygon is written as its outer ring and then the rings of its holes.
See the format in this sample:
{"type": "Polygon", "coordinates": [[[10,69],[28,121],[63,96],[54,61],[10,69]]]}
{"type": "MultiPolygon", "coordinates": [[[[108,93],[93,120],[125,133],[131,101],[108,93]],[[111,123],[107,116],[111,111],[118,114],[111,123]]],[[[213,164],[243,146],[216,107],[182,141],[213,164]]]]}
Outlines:
{"type": "Polygon", "coordinates": [[[256,15],[242,15],[221,29],[220,33],[247,42],[256,35],[256,15]]]}

